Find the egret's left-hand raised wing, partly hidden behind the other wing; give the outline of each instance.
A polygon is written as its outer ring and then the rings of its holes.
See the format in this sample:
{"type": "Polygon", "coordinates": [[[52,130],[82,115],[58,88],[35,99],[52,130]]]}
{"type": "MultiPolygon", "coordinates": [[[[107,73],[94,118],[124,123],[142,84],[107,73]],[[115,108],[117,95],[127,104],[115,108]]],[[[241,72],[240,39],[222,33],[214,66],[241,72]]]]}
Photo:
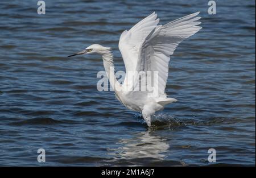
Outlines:
{"type": "Polygon", "coordinates": [[[159,22],[156,16],[154,12],[135,24],[129,31],[122,32],[118,47],[125,63],[126,73],[135,71],[141,45],[159,22]]]}

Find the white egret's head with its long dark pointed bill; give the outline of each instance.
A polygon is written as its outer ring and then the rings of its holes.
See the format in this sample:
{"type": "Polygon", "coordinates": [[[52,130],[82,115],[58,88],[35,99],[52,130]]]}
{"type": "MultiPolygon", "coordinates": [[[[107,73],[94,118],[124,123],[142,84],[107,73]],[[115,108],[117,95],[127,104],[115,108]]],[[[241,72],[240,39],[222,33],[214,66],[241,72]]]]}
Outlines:
{"type": "Polygon", "coordinates": [[[108,53],[111,50],[111,48],[108,47],[104,47],[100,44],[92,44],[89,47],[85,48],[84,50],[77,52],[73,55],[70,55],[68,57],[71,56],[76,56],[76,55],[84,55],[84,54],[89,54],[89,53],[99,53],[99,54],[105,54],[108,53]]]}

